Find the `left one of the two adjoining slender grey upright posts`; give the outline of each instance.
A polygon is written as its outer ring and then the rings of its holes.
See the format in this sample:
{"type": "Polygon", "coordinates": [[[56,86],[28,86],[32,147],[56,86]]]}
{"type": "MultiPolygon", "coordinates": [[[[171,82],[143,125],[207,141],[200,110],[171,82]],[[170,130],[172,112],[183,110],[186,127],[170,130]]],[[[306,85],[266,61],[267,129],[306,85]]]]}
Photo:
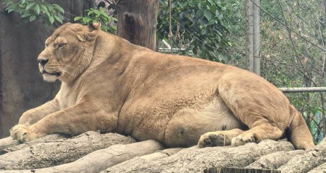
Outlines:
{"type": "Polygon", "coordinates": [[[253,72],[253,3],[246,1],[246,59],[247,70],[253,72]]]}

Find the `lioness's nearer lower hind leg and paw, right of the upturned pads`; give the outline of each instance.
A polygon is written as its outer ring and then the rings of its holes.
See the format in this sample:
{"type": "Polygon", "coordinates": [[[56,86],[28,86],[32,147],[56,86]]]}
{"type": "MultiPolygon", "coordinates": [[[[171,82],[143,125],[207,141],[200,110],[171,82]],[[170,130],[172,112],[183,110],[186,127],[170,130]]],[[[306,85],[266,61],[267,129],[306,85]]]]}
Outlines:
{"type": "Polygon", "coordinates": [[[272,126],[269,123],[261,124],[251,128],[250,130],[236,137],[233,137],[231,140],[231,146],[237,147],[237,146],[244,145],[248,142],[258,143],[263,139],[277,140],[281,138],[282,135],[283,133],[279,128],[272,126]]]}

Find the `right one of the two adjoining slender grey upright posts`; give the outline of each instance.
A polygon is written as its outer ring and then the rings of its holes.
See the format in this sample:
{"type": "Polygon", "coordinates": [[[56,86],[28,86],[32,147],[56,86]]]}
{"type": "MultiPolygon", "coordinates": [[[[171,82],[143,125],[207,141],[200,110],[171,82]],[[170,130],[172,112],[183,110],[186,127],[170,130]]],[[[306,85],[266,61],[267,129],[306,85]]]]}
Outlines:
{"type": "Polygon", "coordinates": [[[253,0],[253,73],[260,76],[260,0],[253,0]]]}

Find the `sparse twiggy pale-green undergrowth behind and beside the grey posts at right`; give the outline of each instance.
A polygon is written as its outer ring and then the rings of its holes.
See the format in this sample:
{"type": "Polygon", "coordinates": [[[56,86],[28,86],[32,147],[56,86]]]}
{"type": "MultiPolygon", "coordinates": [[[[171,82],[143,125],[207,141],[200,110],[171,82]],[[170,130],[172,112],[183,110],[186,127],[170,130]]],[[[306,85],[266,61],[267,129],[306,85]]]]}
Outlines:
{"type": "MultiPolygon", "coordinates": [[[[260,0],[260,6],[270,15],[260,10],[260,58],[261,76],[277,87],[313,87],[326,86],[325,58],[326,53],[317,48],[325,48],[325,6],[323,1],[314,0],[260,0]],[[282,7],[282,8],[281,8],[282,7]],[[283,9],[283,10],[282,10],[283,9]],[[283,17],[284,14],[284,17],[283,17]],[[288,34],[287,23],[293,31],[288,34]],[[291,43],[291,39],[294,47],[291,43]],[[296,52],[298,54],[296,54],[296,52]],[[302,66],[301,65],[301,63],[302,66]],[[305,69],[304,69],[305,68],[305,69]],[[313,82],[312,82],[313,81],[313,82]]],[[[230,21],[228,29],[232,45],[228,63],[238,67],[246,67],[245,54],[245,6],[244,1],[228,0],[226,17],[230,21]]],[[[325,95],[325,94],[323,94],[325,95]]],[[[316,142],[320,141],[324,132],[323,109],[319,93],[293,93],[286,95],[306,118],[306,122],[316,142]]]]}

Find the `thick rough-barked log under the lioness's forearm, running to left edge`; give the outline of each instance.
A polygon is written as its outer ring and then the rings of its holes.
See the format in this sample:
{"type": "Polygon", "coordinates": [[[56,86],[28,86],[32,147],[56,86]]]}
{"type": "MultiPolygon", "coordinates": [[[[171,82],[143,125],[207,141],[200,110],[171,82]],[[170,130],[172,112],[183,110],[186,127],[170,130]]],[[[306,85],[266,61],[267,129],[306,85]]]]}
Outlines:
{"type": "Polygon", "coordinates": [[[38,169],[76,161],[82,156],[115,144],[135,140],[118,134],[86,132],[71,139],[45,142],[0,155],[0,170],[38,169]]]}

